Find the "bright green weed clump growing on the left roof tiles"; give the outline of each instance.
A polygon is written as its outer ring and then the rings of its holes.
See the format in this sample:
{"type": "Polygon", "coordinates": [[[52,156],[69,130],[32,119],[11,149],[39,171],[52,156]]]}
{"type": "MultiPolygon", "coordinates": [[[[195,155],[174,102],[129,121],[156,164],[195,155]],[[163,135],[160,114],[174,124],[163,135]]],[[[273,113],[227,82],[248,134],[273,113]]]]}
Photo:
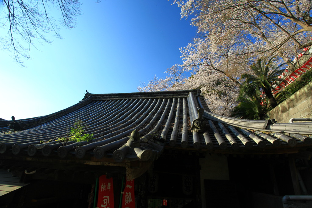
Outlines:
{"type": "Polygon", "coordinates": [[[80,142],[80,141],[91,141],[93,138],[93,134],[84,134],[85,129],[87,127],[82,126],[82,121],[77,120],[74,123],[74,126],[71,127],[71,131],[69,132],[69,136],[62,137],[57,139],[56,141],[75,141],[75,142],[80,142]]]}

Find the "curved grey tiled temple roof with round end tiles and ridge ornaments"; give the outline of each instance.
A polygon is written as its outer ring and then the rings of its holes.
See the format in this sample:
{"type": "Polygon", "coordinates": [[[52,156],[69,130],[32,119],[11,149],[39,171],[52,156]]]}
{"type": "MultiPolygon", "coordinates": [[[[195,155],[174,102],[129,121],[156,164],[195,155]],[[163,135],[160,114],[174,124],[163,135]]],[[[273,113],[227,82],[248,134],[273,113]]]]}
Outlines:
{"type": "MultiPolygon", "coordinates": [[[[199,90],[119,94],[86,93],[62,111],[0,121],[0,153],[115,161],[155,160],[164,148],[226,154],[295,153],[312,146],[312,122],[243,120],[209,112],[199,90]],[[56,141],[80,120],[92,141],[56,141]],[[12,125],[11,125],[12,126],[12,125]],[[137,130],[137,132],[134,132],[137,130]],[[131,133],[133,134],[131,135],[131,133]],[[57,155],[57,156],[56,156],[57,155]]],[[[0,154],[0,156],[1,156],[0,154]]]]}

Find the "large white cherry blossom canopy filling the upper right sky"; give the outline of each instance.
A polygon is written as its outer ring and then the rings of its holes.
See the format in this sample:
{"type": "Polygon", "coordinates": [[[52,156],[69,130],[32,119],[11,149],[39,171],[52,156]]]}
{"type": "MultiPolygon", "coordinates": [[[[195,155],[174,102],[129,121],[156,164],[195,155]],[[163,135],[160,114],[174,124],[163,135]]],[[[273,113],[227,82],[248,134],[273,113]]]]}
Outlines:
{"type": "Polygon", "coordinates": [[[280,57],[290,69],[301,48],[312,45],[310,0],[175,0],[199,38],[181,48],[184,65],[222,73],[236,82],[260,57],[280,57]],[[237,64],[240,65],[237,68],[237,64]]]}

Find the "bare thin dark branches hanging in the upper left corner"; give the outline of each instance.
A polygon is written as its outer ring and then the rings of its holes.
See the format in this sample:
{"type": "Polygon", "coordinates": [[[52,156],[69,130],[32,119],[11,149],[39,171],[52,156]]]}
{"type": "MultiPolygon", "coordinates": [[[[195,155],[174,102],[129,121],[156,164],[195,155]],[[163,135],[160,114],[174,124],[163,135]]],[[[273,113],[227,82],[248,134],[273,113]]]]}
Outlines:
{"type": "Polygon", "coordinates": [[[13,51],[14,59],[19,63],[22,58],[29,58],[35,39],[49,43],[45,34],[50,32],[61,38],[59,25],[75,27],[76,17],[81,14],[78,0],[2,0],[2,6],[0,24],[7,29],[7,35],[0,41],[4,48],[13,51]],[[55,22],[52,10],[58,11],[60,22],[55,22]]]}

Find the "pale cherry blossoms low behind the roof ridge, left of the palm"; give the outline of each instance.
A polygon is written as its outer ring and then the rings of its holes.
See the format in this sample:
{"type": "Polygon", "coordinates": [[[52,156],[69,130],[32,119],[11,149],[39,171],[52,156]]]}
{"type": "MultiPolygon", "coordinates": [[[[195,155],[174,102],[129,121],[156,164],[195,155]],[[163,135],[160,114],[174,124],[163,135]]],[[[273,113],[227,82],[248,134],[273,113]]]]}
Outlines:
{"type": "Polygon", "coordinates": [[[197,72],[186,77],[183,68],[178,65],[167,69],[166,78],[154,77],[148,84],[142,83],[139,92],[172,91],[200,89],[210,111],[229,116],[238,102],[239,88],[235,82],[221,74],[197,72]]]}

